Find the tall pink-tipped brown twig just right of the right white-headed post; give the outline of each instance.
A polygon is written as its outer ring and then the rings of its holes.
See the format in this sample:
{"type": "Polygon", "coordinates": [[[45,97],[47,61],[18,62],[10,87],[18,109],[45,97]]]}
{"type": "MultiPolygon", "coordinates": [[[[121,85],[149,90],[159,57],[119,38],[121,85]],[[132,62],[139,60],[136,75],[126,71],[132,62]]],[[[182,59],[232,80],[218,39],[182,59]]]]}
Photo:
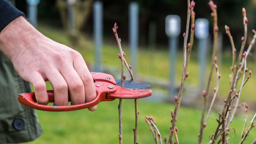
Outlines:
{"type": "Polygon", "coordinates": [[[202,111],[202,116],[201,116],[201,126],[200,126],[198,144],[201,144],[202,138],[203,138],[204,114],[205,114],[205,110],[206,110],[207,102],[208,102],[208,94],[209,94],[209,88],[210,88],[210,84],[211,84],[211,80],[212,80],[212,72],[213,72],[214,65],[217,61],[216,54],[217,54],[217,48],[218,48],[218,31],[219,31],[218,17],[217,17],[217,10],[216,10],[217,6],[212,1],[209,2],[209,6],[212,10],[211,15],[212,15],[212,19],[213,19],[214,46],[213,46],[213,51],[212,51],[212,61],[211,61],[212,65],[211,65],[211,70],[210,70],[210,74],[208,77],[205,96],[204,96],[204,105],[203,105],[203,111],[202,111]]]}

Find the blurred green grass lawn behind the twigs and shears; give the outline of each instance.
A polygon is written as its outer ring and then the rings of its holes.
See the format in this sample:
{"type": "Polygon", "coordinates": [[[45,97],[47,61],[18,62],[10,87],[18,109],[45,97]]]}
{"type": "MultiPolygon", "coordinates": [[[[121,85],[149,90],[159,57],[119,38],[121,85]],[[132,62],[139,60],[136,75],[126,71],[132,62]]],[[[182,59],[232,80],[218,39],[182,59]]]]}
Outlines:
{"type": "MultiPolygon", "coordinates": [[[[67,46],[71,46],[68,36],[61,30],[56,30],[53,28],[41,26],[39,30],[42,31],[46,36],[52,38],[53,40],[63,43],[67,46]]],[[[112,43],[112,42],[109,42],[112,43]]],[[[119,52],[118,47],[115,43],[115,37],[113,36],[113,43],[104,44],[103,46],[103,63],[105,65],[111,65],[112,67],[119,68],[120,61],[117,57],[119,52]]],[[[82,41],[81,46],[74,47],[75,50],[79,51],[84,59],[90,63],[94,62],[94,45],[90,40],[82,41]]],[[[123,46],[123,50],[126,52],[126,60],[129,62],[129,49],[127,46],[123,46]]],[[[192,57],[190,60],[190,65],[188,71],[190,72],[187,78],[186,85],[197,86],[198,83],[198,65],[197,65],[197,51],[192,51],[192,57]]],[[[230,52],[231,53],[231,52],[230,52]]],[[[139,50],[139,63],[138,63],[138,73],[144,74],[145,76],[168,78],[169,73],[169,60],[168,53],[165,50],[149,51],[147,49],[139,50]]],[[[229,91],[229,73],[230,73],[230,55],[224,55],[222,64],[219,64],[219,72],[222,75],[220,80],[220,88],[218,97],[226,98],[229,91]]],[[[247,66],[252,70],[253,75],[250,81],[246,84],[242,91],[241,102],[251,102],[255,104],[255,94],[254,94],[254,84],[256,78],[254,77],[254,71],[256,72],[256,67],[252,61],[248,61],[247,66]],[[248,99],[249,98],[249,99],[248,99]]],[[[209,69],[209,66],[208,66],[209,69]]],[[[182,53],[177,56],[176,64],[176,83],[180,83],[182,71],[182,53]]],[[[207,72],[208,75],[208,72],[207,72]]],[[[216,74],[214,73],[214,78],[212,81],[212,89],[216,85],[216,74]]],[[[136,76],[135,76],[136,78],[136,76]]],[[[48,89],[51,89],[48,82],[48,89]]],[[[186,86],[185,86],[186,87],[186,86]]],[[[153,91],[154,93],[154,91],[153,91]]],[[[183,97],[185,98],[185,97],[183,97]]],[[[95,112],[90,112],[86,110],[79,111],[69,111],[69,112],[46,112],[37,111],[38,117],[40,119],[41,125],[44,129],[43,135],[34,142],[29,143],[103,143],[112,144],[118,143],[118,100],[110,102],[102,102],[98,105],[98,110],[95,112]]],[[[250,106],[250,105],[249,105],[250,106]]],[[[253,105],[251,105],[253,106],[253,105]]],[[[139,129],[138,129],[138,142],[140,144],[144,143],[154,143],[151,132],[148,130],[148,125],[144,121],[144,116],[153,116],[157,122],[157,126],[161,132],[162,137],[168,137],[169,126],[171,124],[171,109],[174,105],[164,103],[164,102],[148,102],[139,101],[139,129]]],[[[200,105],[198,107],[201,107],[200,105]]],[[[217,108],[216,111],[212,111],[209,118],[207,127],[204,132],[203,143],[209,141],[209,135],[215,132],[217,122],[215,118],[218,117],[218,112],[221,107],[217,108]]],[[[236,135],[233,135],[233,130],[229,132],[229,143],[238,143],[240,140],[240,134],[242,127],[244,125],[244,108],[241,112],[238,112],[231,124],[231,127],[236,129],[236,135]]],[[[248,116],[248,122],[251,121],[253,116],[253,111],[251,110],[248,116]]],[[[184,107],[181,105],[177,127],[178,127],[178,137],[180,143],[197,143],[198,133],[200,127],[201,109],[184,107]]],[[[132,100],[123,101],[123,142],[133,143],[133,127],[134,127],[134,102],[132,100]]],[[[249,125],[249,124],[248,124],[249,125]]],[[[247,140],[244,143],[251,143],[255,139],[256,128],[251,131],[247,140]]]]}

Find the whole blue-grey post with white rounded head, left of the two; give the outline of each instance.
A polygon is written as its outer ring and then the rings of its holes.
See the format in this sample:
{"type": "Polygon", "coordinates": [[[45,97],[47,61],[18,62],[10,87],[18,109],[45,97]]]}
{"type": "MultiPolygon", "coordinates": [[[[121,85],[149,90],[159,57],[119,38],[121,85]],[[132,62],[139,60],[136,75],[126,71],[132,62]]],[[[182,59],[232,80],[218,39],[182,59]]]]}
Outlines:
{"type": "Polygon", "coordinates": [[[169,38],[169,91],[170,97],[173,99],[176,95],[175,91],[175,75],[176,75],[176,54],[178,48],[178,38],[180,35],[180,16],[167,15],[165,17],[165,34],[169,38]]]}

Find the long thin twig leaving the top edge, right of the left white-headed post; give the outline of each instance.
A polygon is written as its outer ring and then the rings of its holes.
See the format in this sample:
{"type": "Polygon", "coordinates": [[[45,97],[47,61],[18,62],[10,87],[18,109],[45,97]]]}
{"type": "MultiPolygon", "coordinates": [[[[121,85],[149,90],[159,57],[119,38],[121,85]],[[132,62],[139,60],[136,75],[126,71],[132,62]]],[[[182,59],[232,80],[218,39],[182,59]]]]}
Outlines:
{"type": "Polygon", "coordinates": [[[184,43],[183,43],[183,70],[182,70],[182,79],[181,79],[181,84],[180,84],[180,90],[178,93],[178,99],[176,101],[176,106],[174,110],[174,121],[172,122],[172,130],[169,135],[169,140],[168,144],[172,144],[172,137],[173,137],[173,132],[175,129],[176,125],[176,119],[178,116],[179,108],[180,108],[180,101],[183,93],[183,88],[185,84],[186,77],[188,76],[187,73],[187,67],[186,67],[186,60],[187,60],[187,38],[188,38],[188,29],[189,29],[189,23],[190,23],[190,0],[187,0],[187,24],[186,24],[186,33],[183,33],[184,37],[184,43]]]}

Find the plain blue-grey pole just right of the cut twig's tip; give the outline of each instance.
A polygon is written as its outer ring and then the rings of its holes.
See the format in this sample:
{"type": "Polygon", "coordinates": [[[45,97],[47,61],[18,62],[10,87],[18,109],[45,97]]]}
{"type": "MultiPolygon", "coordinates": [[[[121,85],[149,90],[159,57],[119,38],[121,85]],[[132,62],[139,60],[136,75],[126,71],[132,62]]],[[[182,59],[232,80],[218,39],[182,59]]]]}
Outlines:
{"type": "Polygon", "coordinates": [[[137,2],[131,2],[129,5],[129,37],[130,37],[130,55],[133,74],[137,70],[138,55],[138,36],[139,36],[139,5],[137,2]]]}

